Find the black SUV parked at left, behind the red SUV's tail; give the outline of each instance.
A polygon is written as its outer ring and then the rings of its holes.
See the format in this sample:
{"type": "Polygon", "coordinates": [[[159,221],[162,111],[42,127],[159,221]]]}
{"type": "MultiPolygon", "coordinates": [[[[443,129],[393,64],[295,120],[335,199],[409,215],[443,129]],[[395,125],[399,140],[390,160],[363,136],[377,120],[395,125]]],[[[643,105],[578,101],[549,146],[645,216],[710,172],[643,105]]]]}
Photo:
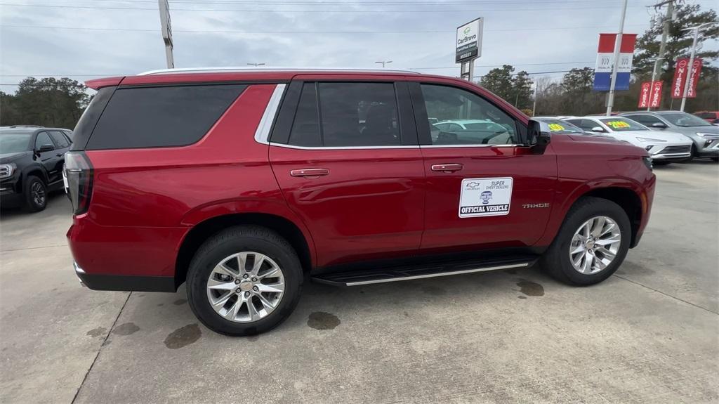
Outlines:
{"type": "Polygon", "coordinates": [[[0,128],[0,204],[27,211],[45,209],[47,193],[63,188],[68,129],[36,126],[0,128]]]}

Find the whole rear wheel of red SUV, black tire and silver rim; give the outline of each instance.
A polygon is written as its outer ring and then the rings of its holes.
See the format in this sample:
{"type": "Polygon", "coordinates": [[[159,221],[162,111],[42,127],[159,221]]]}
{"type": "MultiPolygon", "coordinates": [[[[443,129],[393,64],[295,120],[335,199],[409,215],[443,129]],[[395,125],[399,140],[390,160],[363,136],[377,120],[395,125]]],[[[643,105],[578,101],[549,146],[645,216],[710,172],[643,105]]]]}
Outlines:
{"type": "Polygon", "coordinates": [[[209,329],[232,336],[260,334],[292,313],[302,277],[295,250],[280,235],[237,226],[198,249],[188,270],[188,301],[209,329]]]}

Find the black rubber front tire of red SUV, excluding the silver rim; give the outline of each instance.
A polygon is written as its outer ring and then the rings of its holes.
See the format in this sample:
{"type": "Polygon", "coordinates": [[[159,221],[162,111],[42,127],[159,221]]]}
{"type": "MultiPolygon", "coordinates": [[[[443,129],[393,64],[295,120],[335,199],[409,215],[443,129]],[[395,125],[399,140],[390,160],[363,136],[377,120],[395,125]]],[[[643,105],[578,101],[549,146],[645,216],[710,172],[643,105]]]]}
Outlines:
{"type": "Polygon", "coordinates": [[[626,257],[630,242],[631,224],[623,208],[607,199],[584,197],[569,209],[557,237],[541,257],[540,263],[551,277],[560,282],[576,286],[594,285],[607,279],[617,270],[626,257]],[[595,216],[608,216],[613,219],[619,226],[621,242],[613,262],[600,272],[585,275],[572,267],[572,262],[569,260],[569,244],[572,242],[574,232],[580,229],[585,221],[595,216]]]}

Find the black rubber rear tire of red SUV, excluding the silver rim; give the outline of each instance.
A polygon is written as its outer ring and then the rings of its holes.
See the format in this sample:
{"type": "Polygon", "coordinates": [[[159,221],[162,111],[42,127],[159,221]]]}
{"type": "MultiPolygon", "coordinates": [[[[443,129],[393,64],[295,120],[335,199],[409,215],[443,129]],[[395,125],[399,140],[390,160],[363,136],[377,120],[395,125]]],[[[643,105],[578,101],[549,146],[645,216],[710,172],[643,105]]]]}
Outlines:
{"type": "Polygon", "coordinates": [[[285,321],[300,298],[303,272],[297,253],[279,234],[261,226],[236,226],[209,238],[198,249],[187,275],[188,303],[207,328],[229,336],[260,334],[285,321]],[[252,323],[237,323],[220,316],[211,307],[207,282],[213,268],[238,252],[259,252],[275,261],[283,272],[285,292],[272,313],[252,323]]]}

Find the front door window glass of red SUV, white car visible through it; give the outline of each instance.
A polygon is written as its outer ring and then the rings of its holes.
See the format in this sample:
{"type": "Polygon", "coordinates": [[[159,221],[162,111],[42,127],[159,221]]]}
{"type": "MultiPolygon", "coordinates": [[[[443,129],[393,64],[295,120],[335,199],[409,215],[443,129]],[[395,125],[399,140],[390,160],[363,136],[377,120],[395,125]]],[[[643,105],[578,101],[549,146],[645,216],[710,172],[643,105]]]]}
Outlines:
{"type": "Polygon", "coordinates": [[[431,128],[432,144],[516,144],[516,122],[470,91],[422,84],[427,116],[443,126],[431,128]]]}

